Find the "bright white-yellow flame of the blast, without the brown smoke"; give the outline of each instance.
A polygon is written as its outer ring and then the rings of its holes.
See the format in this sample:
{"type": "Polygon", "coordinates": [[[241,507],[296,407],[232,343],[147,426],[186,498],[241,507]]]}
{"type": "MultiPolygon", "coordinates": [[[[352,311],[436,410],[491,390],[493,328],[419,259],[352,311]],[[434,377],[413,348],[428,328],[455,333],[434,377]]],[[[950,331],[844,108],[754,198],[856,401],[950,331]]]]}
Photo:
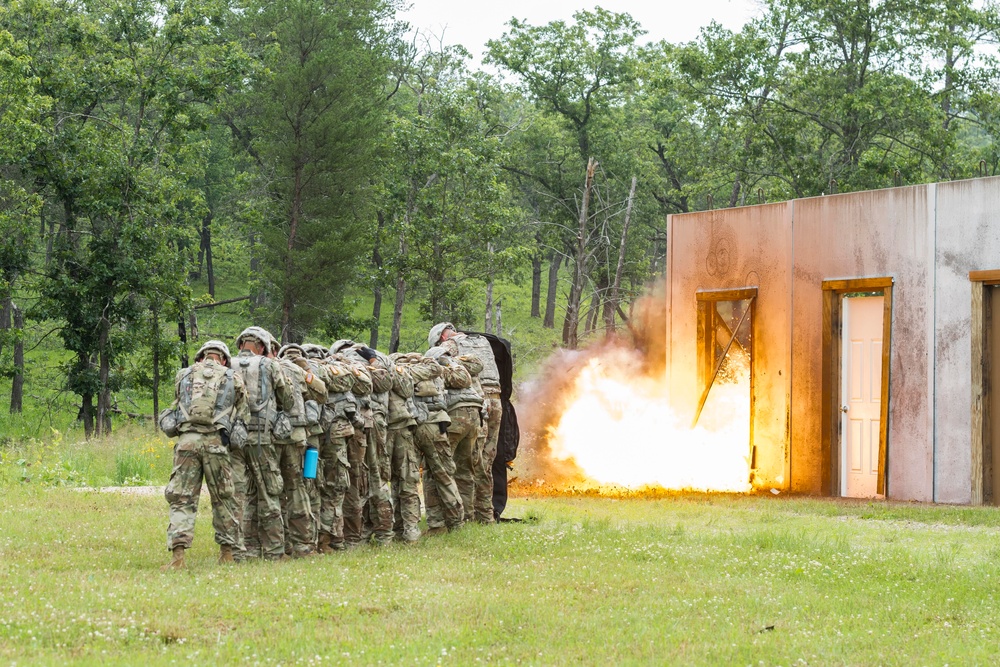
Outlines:
{"type": "Polygon", "coordinates": [[[549,455],[602,486],[750,490],[750,378],[727,363],[702,416],[671,406],[665,379],[636,374],[628,353],[591,358],[564,393],[546,433],[549,455]]]}

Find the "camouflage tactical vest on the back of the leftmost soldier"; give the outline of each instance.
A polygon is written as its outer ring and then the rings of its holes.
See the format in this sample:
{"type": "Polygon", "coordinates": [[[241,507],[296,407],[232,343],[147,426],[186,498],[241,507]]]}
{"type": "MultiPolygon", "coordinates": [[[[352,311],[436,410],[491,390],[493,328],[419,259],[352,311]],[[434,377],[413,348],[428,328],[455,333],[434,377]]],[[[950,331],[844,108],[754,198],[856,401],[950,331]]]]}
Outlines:
{"type": "Polygon", "coordinates": [[[187,369],[178,383],[177,429],[231,430],[236,383],[232,369],[215,362],[198,362],[187,369]],[[185,428],[194,427],[194,428],[185,428]]]}

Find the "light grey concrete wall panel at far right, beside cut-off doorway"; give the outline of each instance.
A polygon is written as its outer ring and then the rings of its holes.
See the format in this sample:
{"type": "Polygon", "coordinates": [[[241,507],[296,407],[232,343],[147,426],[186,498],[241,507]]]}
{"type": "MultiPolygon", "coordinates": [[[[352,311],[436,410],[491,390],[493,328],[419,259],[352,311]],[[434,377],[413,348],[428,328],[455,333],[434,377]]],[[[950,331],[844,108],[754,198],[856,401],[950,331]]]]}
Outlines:
{"type": "Polygon", "coordinates": [[[935,500],[968,503],[972,473],[969,271],[1000,269],[1000,178],[937,185],[935,500]]]}

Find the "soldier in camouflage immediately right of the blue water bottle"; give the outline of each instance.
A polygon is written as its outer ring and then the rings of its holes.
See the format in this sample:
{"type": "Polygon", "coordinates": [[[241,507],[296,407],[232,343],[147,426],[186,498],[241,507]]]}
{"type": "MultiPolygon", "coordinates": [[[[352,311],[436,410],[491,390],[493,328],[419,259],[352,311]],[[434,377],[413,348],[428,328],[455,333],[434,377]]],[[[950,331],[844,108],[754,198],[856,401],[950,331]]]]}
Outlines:
{"type": "Polygon", "coordinates": [[[306,345],[304,349],[314,359],[322,358],[327,372],[327,399],[321,422],[324,433],[319,450],[320,471],[316,487],[320,496],[317,550],[329,554],[345,548],[344,498],[350,486],[351,469],[347,441],[354,435],[358,401],[352,390],[361,372],[356,374],[356,369],[343,357],[331,357],[319,345],[306,345]]]}

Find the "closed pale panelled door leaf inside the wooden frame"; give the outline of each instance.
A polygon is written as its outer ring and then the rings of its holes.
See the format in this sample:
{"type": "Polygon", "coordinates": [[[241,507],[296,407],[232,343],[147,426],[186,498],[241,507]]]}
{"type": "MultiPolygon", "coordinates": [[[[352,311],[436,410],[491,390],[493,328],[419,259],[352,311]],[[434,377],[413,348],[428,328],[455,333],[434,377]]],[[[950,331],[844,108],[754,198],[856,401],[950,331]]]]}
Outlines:
{"type": "Polygon", "coordinates": [[[878,492],[884,297],[845,296],[841,372],[840,495],[878,492]]]}

